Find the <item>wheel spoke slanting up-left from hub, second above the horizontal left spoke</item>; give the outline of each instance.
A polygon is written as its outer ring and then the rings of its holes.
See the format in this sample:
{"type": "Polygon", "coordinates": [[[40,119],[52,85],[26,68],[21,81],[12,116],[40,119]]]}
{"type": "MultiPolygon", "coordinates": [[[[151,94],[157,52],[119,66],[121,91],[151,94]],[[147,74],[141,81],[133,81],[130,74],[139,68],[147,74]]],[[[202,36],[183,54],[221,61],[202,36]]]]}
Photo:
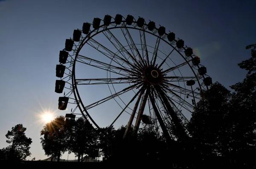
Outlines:
{"type": "Polygon", "coordinates": [[[101,52],[102,54],[104,54],[105,56],[107,56],[109,59],[111,60],[115,60],[115,62],[117,64],[119,64],[119,66],[122,66],[122,67],[125,67],[123,66],[121,63],[118,62],[117,59],[121,60],[123,63],[126,63],[128,66],[130,66],[130,68],[127,68],[127,69],[132,69],[136,72],[139,73],[139,70],[137,69],[137,66],[131,64],[130,62],[128,62],[127,60],[125,60],[124,58],[118,56],[117,54],[113,53],[111,50],[109,50],[108,48],[106,48],[105,46],[103,46],[102,44],[100,44],[99,42],[97,42],[96,40],[94,40],[93,38],[90,38],[89,40],[90,42],[90,46],[92,46],[94,49],[96,49],[97,51],[101,52]],[[92,43],[96,44],[96,46],[94,46],[92,43]],[[103,50],[105,50],[105,52],[99,50],[99,47],[103,50]],[[106,53],[107,52],[107,53],[106,53]],[[108,56],[110,55],[110,56],[108,56]],[[137,70],[136,70],[137,69],[137,70]]]}

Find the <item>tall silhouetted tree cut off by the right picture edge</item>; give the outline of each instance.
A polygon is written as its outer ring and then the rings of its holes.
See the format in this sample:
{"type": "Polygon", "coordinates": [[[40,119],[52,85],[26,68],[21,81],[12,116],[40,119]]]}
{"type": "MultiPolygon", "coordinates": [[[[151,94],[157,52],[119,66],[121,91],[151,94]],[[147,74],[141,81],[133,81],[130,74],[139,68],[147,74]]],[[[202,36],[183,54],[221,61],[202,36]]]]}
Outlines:
{"type": "Polygon", "coordinates": [[[255,158],[256,150],[256,44],[246,49],[251,49],[251,57],[238,66],[248,72],[242,82],[230,86],[234,92],[229,116],[233,122],[232,155],[244,160],[255,158]]]}

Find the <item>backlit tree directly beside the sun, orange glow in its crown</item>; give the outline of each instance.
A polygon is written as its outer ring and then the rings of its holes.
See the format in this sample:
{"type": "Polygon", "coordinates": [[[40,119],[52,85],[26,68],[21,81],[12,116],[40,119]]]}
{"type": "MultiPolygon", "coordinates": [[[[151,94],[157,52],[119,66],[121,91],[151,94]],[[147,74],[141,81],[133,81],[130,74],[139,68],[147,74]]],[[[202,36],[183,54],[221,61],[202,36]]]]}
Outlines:
{"type": "Polygon", "coordinates": [[[61,154],[67,151],[67,140],[69,135],[64,127],[64,116],[58,116],[47,123],[41,130],[41,144],[45,155],[57,157],[60,160],[61,154]]]}

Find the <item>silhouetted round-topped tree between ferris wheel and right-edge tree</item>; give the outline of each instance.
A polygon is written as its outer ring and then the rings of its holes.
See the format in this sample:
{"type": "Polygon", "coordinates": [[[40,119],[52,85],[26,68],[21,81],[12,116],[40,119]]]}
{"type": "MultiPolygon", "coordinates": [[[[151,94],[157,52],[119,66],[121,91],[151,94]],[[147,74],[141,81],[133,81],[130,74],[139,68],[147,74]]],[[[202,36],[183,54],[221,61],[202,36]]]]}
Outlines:
{"type": "Polygon", "coordinates": [[[197,103],[187,126],[189,134],[205,155],[223,155],[230,141],[227,115],[231,92],[216,82],[209,90],[202,91],[201,95],[202,99],[197,103]]]}

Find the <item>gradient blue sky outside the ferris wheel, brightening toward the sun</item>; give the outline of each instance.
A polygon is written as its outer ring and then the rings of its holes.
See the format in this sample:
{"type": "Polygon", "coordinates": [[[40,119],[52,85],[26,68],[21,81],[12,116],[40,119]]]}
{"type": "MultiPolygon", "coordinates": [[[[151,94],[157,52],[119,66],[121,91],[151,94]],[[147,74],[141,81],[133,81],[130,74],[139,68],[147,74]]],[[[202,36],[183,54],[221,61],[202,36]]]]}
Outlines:
{"type": "Polygon", "coordinates": [[[28,159],[46,158],[39,115],[65,115],[57,107],[55,66],[65,39],[84,22],[118,13],[152,20],[192,47],[213,82],[228,88],[245,77],[237,63],[256,43],[255,6],[255,0],[0,0],[0,149],[7,131],[22,123],[33,141],[28,159]]]}

